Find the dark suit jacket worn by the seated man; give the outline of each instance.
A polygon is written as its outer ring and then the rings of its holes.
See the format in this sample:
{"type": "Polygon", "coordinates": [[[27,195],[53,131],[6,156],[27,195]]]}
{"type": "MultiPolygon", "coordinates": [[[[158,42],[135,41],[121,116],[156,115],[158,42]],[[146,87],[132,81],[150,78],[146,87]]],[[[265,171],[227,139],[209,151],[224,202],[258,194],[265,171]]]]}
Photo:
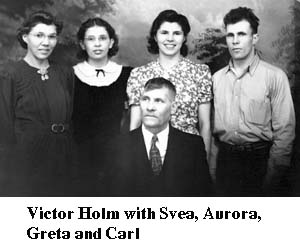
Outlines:
{"type": "Polygon", "coordinates": [[[113,139],[107,151],[109,188],[115,196],[210,196],[212,191],[202,137],[170,126],[159,176],[152,174],[141,127],[113,139]]]}

